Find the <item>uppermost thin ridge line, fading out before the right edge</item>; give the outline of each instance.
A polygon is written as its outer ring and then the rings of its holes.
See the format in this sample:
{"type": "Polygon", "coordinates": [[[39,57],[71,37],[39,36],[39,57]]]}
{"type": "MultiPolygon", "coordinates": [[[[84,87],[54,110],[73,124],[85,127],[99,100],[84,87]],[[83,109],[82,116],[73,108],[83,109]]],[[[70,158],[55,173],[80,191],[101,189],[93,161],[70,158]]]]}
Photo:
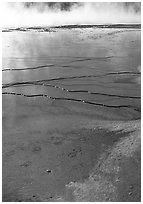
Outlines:
{"type": "MultiPolygon", "coordinates": [[[[92,57],[92,58],[83,58],[83,59],[77,59],[77,60],[72,60],[70,62],[65,62],[65,63],[59,63],[59,64],[49,64],[49,65],[41,65],[41,66],[37,66],[37,67],[25,67],[25,68],[6,68],[6,69],[2,69],[2,71],[23,71],[23,70],[31,70],[31,69],[41,69],[41,68],[45,68],[45,67],[53,67],[53,66],[58,66],[58,65],[62,65],[62,64],[70,64],[73,62],[80,62],[80,61],[89,61],[89,60],[104,60],[104,59],[110,59],[114,56],[107,56],[107,57],[92,57]]],[[[63,65],[62,67],[67,67],[69,65],[63,65]]]]}

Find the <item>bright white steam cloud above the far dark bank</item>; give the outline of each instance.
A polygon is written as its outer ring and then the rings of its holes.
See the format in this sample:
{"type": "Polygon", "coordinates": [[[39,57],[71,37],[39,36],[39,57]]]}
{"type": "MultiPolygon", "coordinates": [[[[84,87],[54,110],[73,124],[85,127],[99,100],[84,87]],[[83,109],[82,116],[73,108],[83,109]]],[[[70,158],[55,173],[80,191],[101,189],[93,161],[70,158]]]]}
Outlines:
{"type": "Polygon", "coordinates": [[[140,23],[140,2],[25,2],[3,4],[3,28],[140,23]]]}

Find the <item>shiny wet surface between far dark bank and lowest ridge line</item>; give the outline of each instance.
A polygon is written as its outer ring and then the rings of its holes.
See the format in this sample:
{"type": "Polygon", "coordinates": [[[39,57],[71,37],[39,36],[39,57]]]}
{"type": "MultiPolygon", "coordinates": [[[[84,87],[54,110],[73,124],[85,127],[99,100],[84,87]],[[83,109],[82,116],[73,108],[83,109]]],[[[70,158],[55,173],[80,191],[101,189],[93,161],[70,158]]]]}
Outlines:
{"type": "Polygon", "coordinates": [[[3,33],[3,91],[140,108],[140,61],[139,30],[3,33]]]}

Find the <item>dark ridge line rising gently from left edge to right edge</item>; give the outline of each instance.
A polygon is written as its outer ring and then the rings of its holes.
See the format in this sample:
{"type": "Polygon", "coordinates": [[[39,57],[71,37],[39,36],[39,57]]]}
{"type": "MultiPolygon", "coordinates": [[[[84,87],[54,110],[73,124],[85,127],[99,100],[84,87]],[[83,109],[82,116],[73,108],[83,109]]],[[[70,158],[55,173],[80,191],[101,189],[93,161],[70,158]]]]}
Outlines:
{"type": "Polygon", "coordinates": [[[24,82],[15,82],[15,83],[7,83],[7,84],[2,84],[2,88],[13,86],[13,85],[19,85],[19,84],[28,84],[28,83],[38,83],[38,82],[47,82],[47,81],[57,81],[57,80],[64,80],[64,79],[80,79],[80,78],[90,78],[90,77],[103,77],[103,76],[108,76],[108,75],[114,75],[114,74],[137,74],[140,75],[140,72],[128,72],[128,71],[121,71],[121,72],[108,72],[107,74],[104,75],[82,75],[82,76],[71,76],[71,77],[57,77],[57,78],[52,78],[52,79],[44,79],[44,80],[35,80],[35,81],[24,81],[24,82]]]}

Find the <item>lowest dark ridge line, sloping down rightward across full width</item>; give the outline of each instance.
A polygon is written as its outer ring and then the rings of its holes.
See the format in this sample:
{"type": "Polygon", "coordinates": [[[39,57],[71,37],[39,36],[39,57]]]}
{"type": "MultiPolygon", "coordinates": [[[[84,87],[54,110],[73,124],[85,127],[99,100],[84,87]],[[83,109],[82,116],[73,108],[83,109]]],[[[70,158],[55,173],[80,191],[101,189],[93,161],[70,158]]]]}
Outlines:
{"type": "Polygon", "coordinates": [[[32,98],[32,97],[46,97],[46,98],[53,99],[53,100],[76,101],[76,102],[82,102],[82,103],[96,105],[96,106],[103,106],[103,107],[107,107],[107,108],[132,108],[135,111],[141,112],[140,109],[136,108],[135,106],[131,106],[131,105],[118,105],[118,106],[106,105],[106,104],[103,104],[103,103],[95,103],[95,102],[81,100],[81,99],[65,98],[65,97],[51,97],[51,96],[48,96],[47,94],[30,94],[30,95],[28,95],[28,94],[15,93],[15,92],[3,92],[2,94],[3,95],[24,96],[24,97],[29,97],[29,98],[32,98]]]}

